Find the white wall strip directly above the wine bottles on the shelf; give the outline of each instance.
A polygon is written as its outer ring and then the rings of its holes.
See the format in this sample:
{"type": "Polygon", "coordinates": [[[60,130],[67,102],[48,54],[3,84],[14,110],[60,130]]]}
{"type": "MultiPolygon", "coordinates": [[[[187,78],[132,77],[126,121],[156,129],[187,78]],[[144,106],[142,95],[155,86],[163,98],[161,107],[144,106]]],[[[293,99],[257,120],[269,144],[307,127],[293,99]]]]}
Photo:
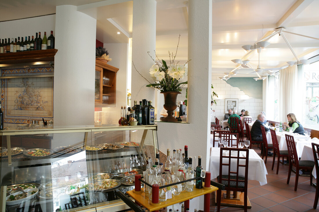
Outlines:
{"type": "Polygon", "coordinates": [[[55,25],[56,15],[4,21],[0,22],[0,38],[1,40],[5,38],[10,38],[11,40],[11,38],[32,35],[35,38],[36,32],[41,32],[41,38],[43,38],[44,32],[47,32],[48,37],[51,30],[53,30],[53,35],[55,36],[55,25]]]}

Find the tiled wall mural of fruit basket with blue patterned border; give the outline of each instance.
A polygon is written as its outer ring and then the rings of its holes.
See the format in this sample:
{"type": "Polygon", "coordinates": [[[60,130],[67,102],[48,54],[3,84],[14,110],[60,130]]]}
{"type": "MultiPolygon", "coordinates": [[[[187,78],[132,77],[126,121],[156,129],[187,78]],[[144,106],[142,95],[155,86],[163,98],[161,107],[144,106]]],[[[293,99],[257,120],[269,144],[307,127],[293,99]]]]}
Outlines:
{"type": "Polygon", "coordinates": [[[10,67],[3,68],[1,73],[2,76],[27,75],[23,78],[1,79],[1,103],[5,126],[28,124],[30,119],[53,119],[53,77],[32,77],[53,74],[52,67],[10,67]]]}

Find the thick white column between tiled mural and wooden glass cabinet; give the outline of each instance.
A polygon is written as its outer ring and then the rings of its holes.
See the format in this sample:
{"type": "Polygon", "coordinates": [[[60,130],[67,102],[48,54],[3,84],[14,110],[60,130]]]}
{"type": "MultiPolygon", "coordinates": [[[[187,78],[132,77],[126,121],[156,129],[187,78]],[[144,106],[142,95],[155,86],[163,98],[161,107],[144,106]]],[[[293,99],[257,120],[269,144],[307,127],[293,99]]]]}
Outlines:
{"type": "Polygon", "coordinates": [[[94,124],[96,19],[56,7],[54,125],[94,124]]]}

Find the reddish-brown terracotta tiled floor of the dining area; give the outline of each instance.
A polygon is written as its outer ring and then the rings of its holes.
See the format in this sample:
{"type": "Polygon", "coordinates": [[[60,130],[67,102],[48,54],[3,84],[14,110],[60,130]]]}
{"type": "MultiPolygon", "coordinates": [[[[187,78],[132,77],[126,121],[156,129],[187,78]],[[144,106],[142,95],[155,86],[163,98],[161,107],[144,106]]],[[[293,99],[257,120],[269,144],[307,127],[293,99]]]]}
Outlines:
{"type": "MultiPolygon", "coordinates": [[[[260,150],[253,145],[255,151],[260,154],[260,150]]],[[[256,180],[248,180],[248,198],[252,205],[248,211],[319,211],[312,208],[315,198],[315,187],[310,186],[309,177],[299,177],[298,189],[294,191],[295,173],[291,173],[289,185],[287,184],[288,166],[279,165],[279,173],[276,174],[277,158],[274,170],[271,170],[272,157],[267,158],[267,182],[268,184],[260,186],[256,180]]],[[[313,178],[315,182],[315,178],[313,178]]],[[[217,211],[214,201],[215,194],[211,194],[211,211],[217,211]]],[[[243,208],[220,206],[220,211],[243,211],[243,208]]]]}

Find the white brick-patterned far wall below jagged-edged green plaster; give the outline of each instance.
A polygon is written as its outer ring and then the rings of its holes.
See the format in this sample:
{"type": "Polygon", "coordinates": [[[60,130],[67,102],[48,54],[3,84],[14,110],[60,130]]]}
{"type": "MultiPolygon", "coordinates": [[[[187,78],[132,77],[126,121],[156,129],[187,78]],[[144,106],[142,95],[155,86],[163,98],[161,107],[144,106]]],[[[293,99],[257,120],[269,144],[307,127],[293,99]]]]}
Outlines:
{"type": "MultiPolygon", "coordinates": [[[[217,93],[218,98],[216,98],[217,105],[213,105],[211,108],[215,110],[215,116],[219,120],[224,119],[225,115],[225,98],[238,99],[238,114],[241,114],[241,110],[249,110],[252,120],[257,119],[257,115],[263,111],[263,100],[255,99],[246,95],[237,87],[232,87],[227,84],[225,80],[220,80],[219,77],[212,77],[211,84],[213,84],[214,91],[217,93]]],[[[267,115],[267,114],[266,114],[267,115]]],[[[215,117],[212,117],[212,121],[215,121],[215,117]]]]}

